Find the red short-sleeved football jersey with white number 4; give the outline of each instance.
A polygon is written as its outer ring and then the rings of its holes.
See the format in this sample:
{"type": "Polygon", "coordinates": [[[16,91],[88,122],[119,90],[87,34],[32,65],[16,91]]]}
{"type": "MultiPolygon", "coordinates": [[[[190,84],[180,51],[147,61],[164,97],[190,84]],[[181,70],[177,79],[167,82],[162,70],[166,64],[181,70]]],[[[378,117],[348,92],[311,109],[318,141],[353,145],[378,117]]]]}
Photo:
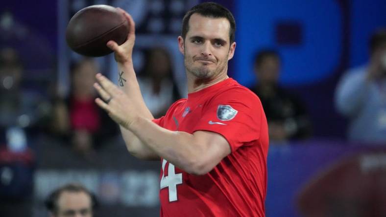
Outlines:
{"type": "Polygon", "coordinates": [[[153,121],[168,130],[219,133],[232,150],[205,175],[162,159],[161,217],[265,217],[268,128],[252,91],[229,78],[190,93],[153,121]]]}

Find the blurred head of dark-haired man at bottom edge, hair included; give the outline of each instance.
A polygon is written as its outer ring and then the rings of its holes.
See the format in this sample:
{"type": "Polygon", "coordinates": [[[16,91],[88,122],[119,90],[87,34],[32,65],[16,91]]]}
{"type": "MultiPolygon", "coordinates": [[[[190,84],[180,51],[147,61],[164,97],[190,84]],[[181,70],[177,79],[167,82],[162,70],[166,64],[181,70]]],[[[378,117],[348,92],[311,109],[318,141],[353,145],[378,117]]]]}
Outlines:
{"type": "Polygon", "coordinates": [[[67,184],[53,191],[45,201],[49,217],[93,217],[95,196],[80,184],[67,184]]]}

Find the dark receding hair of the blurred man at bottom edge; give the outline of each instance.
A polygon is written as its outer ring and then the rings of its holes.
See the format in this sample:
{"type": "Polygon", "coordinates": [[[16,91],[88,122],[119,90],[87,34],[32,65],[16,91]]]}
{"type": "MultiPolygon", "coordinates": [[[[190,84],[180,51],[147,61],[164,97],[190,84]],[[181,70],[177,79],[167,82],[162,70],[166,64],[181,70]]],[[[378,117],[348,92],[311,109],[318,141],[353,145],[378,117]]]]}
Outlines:
{"type": "Polygon", "coordinates": [[[73,192],[73,193],[79,193],[83,192],[90,196],[91,199],[91,207],[94,210],[98,206],[98,202],[96,200],[96,197],[93,193],[91,193],[87,188],[85,188],[83,185],[78,183],[70,183],[67,185],[64,185],[56,190],[54,190],[50,195],[48,195],[47,199],[45,200],[44,204],[48,211],[56,214],[58,211],[58,199],[60,195],[62,195],[63,192],[73,192]]]}

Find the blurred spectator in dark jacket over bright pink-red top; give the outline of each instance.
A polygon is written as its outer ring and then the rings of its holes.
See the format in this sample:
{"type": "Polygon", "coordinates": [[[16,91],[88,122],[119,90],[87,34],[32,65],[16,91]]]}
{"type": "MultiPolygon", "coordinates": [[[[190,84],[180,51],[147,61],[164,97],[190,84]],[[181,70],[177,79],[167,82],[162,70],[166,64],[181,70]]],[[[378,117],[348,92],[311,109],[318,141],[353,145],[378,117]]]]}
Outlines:
{"type": "Polygon", "coordinates": [[[97,72],[98,65],[92,59],[72,65],[70,95],[57,100],[53,108],[52,131],[86,157],[92,157],[94,148],[118,133],[118,126],[94,101],[97,72]]]}

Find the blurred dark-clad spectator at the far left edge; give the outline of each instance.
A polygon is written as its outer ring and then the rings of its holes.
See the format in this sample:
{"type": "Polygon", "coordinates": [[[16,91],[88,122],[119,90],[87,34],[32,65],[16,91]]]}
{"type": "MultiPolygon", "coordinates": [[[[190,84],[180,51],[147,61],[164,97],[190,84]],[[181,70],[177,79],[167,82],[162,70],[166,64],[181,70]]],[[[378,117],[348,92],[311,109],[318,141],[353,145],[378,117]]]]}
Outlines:
{"type": "Polygon", "coordinates": [[[17,51],[0,50],[0,126],[42,127],[50,105],[36,89],[23,83],[23,63],[17,51]]]}

